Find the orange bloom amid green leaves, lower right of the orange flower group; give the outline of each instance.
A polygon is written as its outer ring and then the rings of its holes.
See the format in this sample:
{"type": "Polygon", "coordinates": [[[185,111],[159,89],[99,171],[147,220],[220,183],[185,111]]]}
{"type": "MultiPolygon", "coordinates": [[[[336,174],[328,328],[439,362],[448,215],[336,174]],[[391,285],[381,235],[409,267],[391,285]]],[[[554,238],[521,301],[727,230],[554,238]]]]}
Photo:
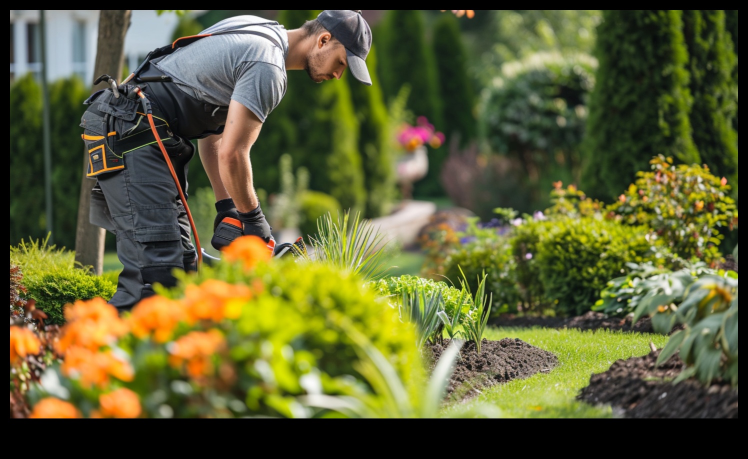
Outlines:
{"type": "Polygon", "coordinates": [[[211,356],[225,346],[225,340],[218,330],[191,332],[178,339],[169,350],[169,363],[174,368],[187,367],[187,374],[195,379],[209,376],[213,371],[211,356]]]}

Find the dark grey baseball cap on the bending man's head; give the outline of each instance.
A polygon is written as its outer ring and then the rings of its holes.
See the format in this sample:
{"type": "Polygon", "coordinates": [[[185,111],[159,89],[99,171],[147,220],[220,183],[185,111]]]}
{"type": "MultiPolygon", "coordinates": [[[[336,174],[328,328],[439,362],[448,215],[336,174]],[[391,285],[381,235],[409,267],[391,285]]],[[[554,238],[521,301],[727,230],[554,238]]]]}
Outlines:
{"type": "Polygon", "coordinates": [[[360,10],[324,10],[317,20],[346,47],[348,68],[364,85],[371,86],[366,58],[372,47],[372,31],[360,10]]]}

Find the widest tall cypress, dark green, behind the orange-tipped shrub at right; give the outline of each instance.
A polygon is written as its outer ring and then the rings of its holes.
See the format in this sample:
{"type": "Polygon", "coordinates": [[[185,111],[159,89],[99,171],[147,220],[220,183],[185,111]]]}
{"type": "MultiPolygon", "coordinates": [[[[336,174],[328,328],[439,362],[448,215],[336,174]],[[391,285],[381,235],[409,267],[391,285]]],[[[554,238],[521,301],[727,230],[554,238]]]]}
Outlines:
{"type": "Polygon", "coordinates": [[[617,196],[657,154],[698,163],[681,10],[605,10],[595,54],[583,189],[617,196]]]}

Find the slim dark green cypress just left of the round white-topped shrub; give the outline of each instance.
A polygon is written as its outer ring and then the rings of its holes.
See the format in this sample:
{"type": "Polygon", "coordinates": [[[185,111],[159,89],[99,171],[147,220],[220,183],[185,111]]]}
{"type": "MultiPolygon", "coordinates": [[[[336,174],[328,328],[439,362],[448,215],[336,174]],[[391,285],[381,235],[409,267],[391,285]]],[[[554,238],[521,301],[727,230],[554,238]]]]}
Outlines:
{"type": "Polygon", "coordinates": [[[461,146],[468,145],[477,131],[473,115],[475,97],[468,78],[468,58],[459,20],[452,14],[441,15],[434,26],[434,55],[439,97],[444,106],[444,125],[437,129],[447,136],[447,143],[457,135],[461,146]]]}

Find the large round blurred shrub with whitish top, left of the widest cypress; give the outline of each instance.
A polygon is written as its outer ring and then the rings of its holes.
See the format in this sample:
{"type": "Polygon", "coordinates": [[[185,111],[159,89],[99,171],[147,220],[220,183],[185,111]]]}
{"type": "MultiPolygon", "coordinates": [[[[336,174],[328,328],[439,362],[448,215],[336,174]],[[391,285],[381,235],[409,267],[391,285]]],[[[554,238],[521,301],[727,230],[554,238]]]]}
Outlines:
{"type": "Polygon", "coordinates": [[[538,53],[504,64],[502,76],[484,91],[482,136],[492,151],[517,160],[527,177],[535,207],[519,210],[545,208],[546,183],[578,177],[596,68],[589,55],[538,53]]]}

